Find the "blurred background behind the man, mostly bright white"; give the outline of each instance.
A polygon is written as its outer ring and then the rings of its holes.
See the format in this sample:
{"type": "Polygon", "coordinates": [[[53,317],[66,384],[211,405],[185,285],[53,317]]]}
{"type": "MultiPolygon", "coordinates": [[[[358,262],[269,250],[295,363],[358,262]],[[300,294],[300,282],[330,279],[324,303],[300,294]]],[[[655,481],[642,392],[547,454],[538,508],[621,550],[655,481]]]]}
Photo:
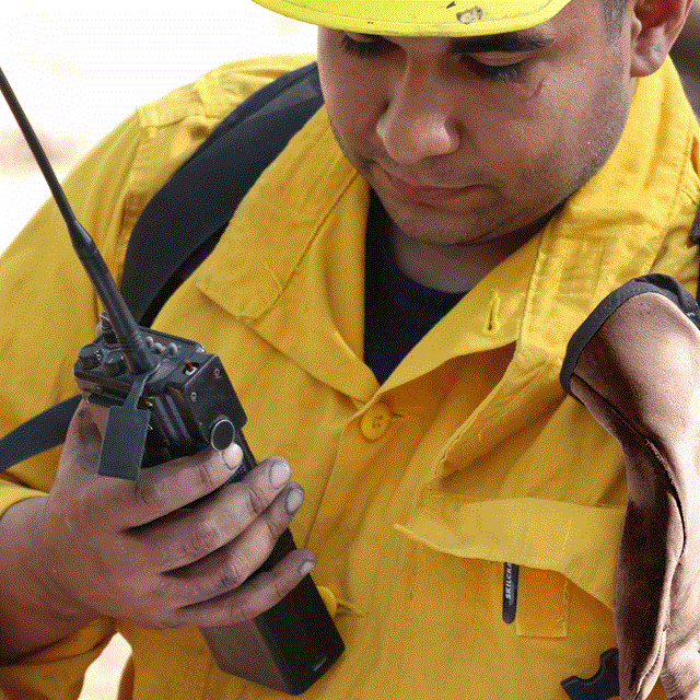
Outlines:
{"type": "MultiPolygon", "coordinates": [[[[700,12],[677,47],[700,114],[700,12]]],[[[238,58],[315,50],[314,26],[249,0],[192,3],[37,0],[0,9],[0,66],[42,139],[59,178],[144,102],[238,58]],[[144,9],[145,8],[145,9],[144,9]]],[[[47,198],[10,110],[0,101],[0,249],[47,198]]],[[[81,700],[113,700],[129,650],[115,638],[89,670],[81,700]]]]}

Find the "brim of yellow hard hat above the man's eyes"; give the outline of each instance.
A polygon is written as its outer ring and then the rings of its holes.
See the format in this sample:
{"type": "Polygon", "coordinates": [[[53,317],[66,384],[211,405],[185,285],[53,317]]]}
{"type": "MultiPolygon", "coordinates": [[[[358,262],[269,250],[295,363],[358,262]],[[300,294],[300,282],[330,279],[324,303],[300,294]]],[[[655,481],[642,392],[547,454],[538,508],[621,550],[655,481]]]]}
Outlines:
{"type": "Polygon", "coordinates": [[[570,0],[255,0],[301,22],[383,36],[475,36],[526,30],[570,0]]]}

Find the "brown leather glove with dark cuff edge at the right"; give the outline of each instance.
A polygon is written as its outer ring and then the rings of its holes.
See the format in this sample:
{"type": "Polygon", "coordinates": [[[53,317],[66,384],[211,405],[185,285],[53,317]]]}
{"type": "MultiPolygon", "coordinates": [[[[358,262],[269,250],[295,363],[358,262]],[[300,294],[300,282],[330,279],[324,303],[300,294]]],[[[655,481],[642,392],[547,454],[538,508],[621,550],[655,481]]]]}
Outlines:
{"type": "Polygon", "coordinates": [[[700,331],[675,280],[612,292],[572,337],[561,381],[616,438],[628,503],[615,630],[621,700],[658,678],[668,700],[700,699],[700,331]]]}

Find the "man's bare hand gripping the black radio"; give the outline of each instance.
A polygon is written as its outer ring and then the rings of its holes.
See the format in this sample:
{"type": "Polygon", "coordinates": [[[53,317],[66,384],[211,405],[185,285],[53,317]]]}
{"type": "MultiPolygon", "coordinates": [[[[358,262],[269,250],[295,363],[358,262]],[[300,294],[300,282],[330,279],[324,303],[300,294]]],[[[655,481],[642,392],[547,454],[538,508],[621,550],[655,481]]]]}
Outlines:
{"type": "Polygon", "coordinates": [[[303,500],[284,460],[269,458],[224,486],[241,462],[234,445],[127,481],[97,476],[100,447],[82,404],[31,528],[35,575],[62,615],[145,628],[225,626],[275,605],[315,563],[312,552],[295,550],[252,575],[303,500]]]}

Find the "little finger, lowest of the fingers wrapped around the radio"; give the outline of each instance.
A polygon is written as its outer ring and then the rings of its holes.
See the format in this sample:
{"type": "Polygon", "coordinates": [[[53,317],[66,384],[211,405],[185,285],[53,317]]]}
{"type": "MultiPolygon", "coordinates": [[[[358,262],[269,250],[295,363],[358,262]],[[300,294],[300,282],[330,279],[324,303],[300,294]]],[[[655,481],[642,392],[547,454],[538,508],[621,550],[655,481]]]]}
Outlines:
{"type": "Polygon", "coordinates": [[[223,627],[252,620],[277,605],[316,565],[307,549],[294,549],[269,571],[259,571],[217,598],[180,608],[177,625],[223,627]]]}

